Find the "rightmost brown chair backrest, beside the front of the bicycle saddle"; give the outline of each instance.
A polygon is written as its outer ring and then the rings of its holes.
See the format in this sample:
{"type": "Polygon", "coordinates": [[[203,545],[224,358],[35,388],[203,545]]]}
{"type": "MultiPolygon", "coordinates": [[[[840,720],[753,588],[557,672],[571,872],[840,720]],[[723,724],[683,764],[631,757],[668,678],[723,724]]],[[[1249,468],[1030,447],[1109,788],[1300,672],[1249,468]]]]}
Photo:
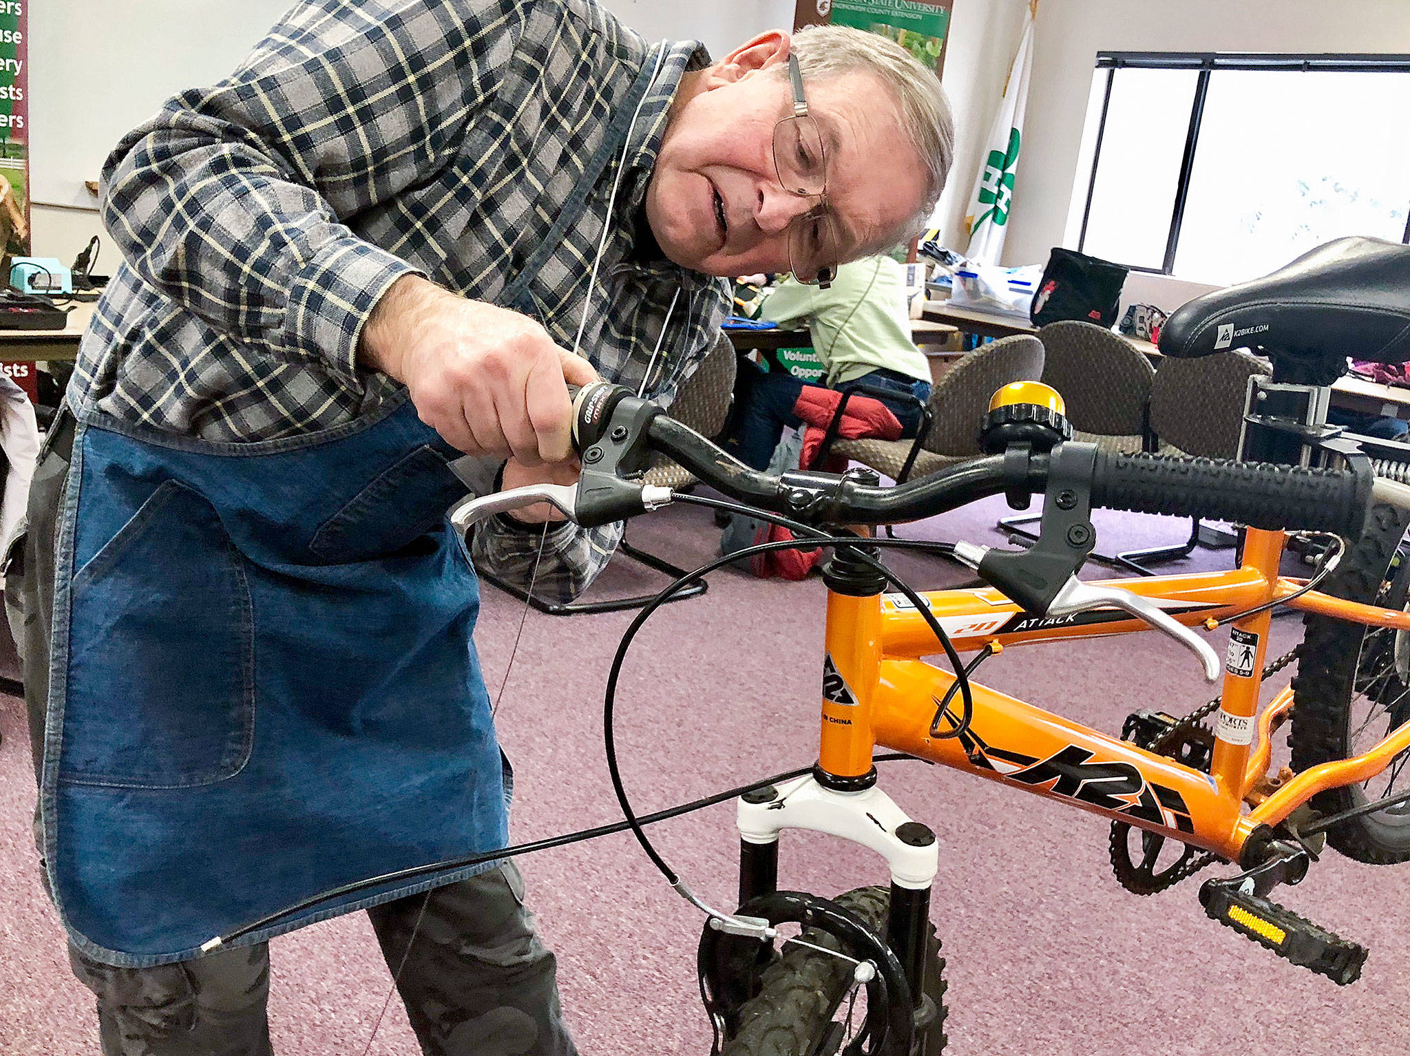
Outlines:
{"type": "Polygon", "coordinates": [[[1237,458],[1248,379],[1273,369],[1242,350],[1166,357],[1151,386],[1151,429],[1184,454],[1237,458]]]}

